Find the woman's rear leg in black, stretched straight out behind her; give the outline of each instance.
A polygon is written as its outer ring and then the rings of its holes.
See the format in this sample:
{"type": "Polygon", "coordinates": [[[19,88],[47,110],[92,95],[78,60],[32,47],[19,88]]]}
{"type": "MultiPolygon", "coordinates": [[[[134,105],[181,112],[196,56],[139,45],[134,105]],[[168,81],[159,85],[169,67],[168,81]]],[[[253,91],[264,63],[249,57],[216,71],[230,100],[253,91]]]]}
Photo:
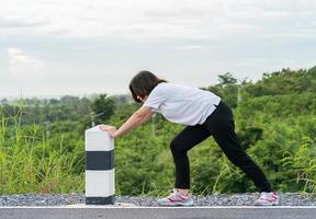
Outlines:
{"type": "Polygon", "coordinates": [[[224,103],[217,107],[205,126],[207,126],[230,162],[240,168],[253,181],[257,189],[259,192],[271,192],[271,186],[264,173],[238,142],[232,110],[224,103]]]}

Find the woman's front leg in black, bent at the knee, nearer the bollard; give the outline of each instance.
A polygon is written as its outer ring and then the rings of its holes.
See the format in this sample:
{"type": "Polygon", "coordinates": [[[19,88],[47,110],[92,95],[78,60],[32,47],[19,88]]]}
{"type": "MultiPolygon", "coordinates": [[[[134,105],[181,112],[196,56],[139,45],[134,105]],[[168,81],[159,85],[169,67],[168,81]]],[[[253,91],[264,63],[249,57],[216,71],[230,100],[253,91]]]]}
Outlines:
{"type": "Polygon", "coordinates": [[[187,126],[170,143],[176,165],[176,188],[190,189],[190,163],[188,151],[210,137],[202,125],[187,126]]]}

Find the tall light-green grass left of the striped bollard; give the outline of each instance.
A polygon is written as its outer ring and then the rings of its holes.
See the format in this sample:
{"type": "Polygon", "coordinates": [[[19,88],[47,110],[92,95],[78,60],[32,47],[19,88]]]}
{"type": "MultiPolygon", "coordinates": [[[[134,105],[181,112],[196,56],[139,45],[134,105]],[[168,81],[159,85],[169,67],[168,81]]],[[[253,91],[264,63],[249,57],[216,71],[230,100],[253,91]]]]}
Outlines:
{"type": "Polygon", "coordinates": [[[0,108],[0,193],[82,193],[84,149],[69,151],[64,136],[48,139],[43,124],[22,125],[23,102],[0,108]]]}

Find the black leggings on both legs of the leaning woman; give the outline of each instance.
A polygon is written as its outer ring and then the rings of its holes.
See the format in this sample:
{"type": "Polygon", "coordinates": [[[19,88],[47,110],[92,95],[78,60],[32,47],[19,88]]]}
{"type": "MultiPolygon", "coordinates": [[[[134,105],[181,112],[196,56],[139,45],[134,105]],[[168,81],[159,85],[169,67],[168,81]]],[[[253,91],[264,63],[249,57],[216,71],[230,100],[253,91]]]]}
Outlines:
{"type": "Polygon", "coordinates": [[[204,124],[187,126],[171,141],[170,149],[176,164],[176,188],[190,188],[190,164],[187,152],[211,135],[230,162],[253,181],[258,192],[271,192],[264,173],[241,149],[235,132],[233,112],[223,101],[204,124]]]}

